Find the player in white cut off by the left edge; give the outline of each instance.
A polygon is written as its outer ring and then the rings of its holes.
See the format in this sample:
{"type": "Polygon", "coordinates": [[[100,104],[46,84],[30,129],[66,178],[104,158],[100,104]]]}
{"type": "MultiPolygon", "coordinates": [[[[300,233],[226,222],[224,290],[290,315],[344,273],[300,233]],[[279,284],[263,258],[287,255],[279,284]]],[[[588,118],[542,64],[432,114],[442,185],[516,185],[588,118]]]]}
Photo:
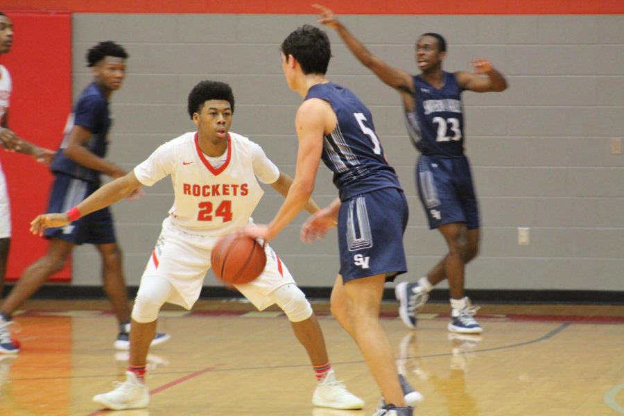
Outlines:
{"type": "MultiPolygon", "coordinates": [[[[3,12],[0,12],[0,55],[8,53],[13,43],[13,25],[11,20],[3,12]]],[[[28,141],[15,135],[8,129],[8,107],[11,96],[11,76],[3,65],[0,64],[0,145],[7,150],[12,150],[26,155],[32,155],[37,162],[50,164],[54,152],[35,146],[28,141]]],[[[6,180],[0,166],[0,295],[4,287],[6,274],[6,262],[11,239],[11,216],[6,180]]],[[[0,319],[0,352],[17,352],[17,347],[12,344],[8,336],[8,322],[0,319]]]]}

